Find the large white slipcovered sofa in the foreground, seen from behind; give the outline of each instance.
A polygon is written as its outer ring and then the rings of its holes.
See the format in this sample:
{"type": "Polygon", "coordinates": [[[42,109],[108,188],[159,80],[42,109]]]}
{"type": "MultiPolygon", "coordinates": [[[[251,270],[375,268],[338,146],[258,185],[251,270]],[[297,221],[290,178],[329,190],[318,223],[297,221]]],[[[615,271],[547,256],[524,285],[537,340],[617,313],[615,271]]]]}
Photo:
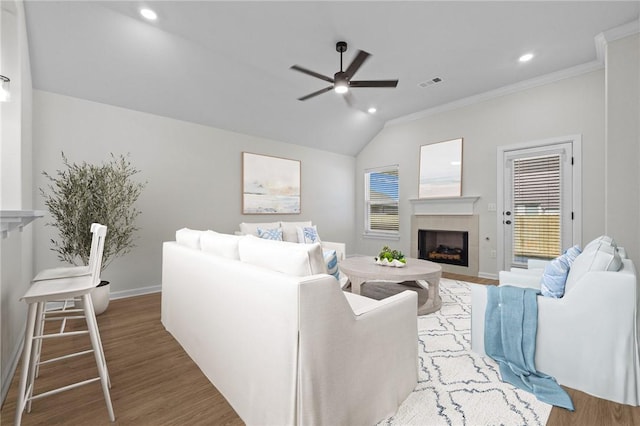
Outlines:
{"type": "Polygon", "coordinates": [[[319,244],[181,230],[162,323],[248,425],[373,425],[417,383],[416,293],[376,301],[319,244]]]}

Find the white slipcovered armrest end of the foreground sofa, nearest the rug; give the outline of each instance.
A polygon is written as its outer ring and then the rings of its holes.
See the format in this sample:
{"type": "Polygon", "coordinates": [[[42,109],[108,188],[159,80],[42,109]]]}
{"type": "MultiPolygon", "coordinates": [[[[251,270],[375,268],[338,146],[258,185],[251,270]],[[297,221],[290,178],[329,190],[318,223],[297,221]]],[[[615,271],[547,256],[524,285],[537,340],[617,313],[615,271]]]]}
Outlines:
{"type": "Polygon", "coordinates": [[[357,314],[345,296],[301,283],[299,424],[376,424],[417,384],[417,293],[359,300],[357,314]]]}

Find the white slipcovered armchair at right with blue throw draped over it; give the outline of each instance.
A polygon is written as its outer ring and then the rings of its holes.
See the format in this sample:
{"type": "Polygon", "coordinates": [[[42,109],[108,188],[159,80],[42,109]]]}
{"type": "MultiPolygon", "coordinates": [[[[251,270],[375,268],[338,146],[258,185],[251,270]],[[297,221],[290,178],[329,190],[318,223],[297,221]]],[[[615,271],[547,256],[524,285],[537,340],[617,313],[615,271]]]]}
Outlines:
{"type": "MultiPolygon", "coordinates": [[[[611,238],[595,239],[571,264],[562,297],[537,296],[535,364],[561,385],[638,406],[640,291],[625,257],[611,238]]],[[[500,285],[540,289],[545,266],[503,271],[500,285]]],[[[484,355],[487,287],[471,287],[471,348],[484,355]]]]}

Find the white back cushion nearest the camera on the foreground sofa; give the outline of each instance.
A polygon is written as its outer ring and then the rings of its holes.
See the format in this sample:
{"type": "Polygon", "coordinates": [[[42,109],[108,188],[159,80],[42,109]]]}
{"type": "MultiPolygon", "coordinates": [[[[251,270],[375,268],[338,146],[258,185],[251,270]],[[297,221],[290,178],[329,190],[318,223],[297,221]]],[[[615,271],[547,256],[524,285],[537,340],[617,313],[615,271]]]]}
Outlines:
{"type": "Polygon", "coordinates": [[[297,244],[263,240],[254,236],[242,238],[238,244],[240,260],[283,274],[304,277],[326,274],[327,265],[320,244],[297,244]]]}

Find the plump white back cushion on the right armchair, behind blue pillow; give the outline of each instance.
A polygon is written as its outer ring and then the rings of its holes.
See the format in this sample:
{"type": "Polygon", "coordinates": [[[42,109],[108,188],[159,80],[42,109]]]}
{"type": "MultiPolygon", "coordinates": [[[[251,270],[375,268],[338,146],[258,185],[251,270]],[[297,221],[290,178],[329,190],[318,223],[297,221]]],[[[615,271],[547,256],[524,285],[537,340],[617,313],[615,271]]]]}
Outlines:
{"type": "Polygon", "coordinates": [[[607,241],[589,243],[576,258],[569,270],[565,293],[590,271],[619,271],[622,259],[615,246],[607,241]]]}

